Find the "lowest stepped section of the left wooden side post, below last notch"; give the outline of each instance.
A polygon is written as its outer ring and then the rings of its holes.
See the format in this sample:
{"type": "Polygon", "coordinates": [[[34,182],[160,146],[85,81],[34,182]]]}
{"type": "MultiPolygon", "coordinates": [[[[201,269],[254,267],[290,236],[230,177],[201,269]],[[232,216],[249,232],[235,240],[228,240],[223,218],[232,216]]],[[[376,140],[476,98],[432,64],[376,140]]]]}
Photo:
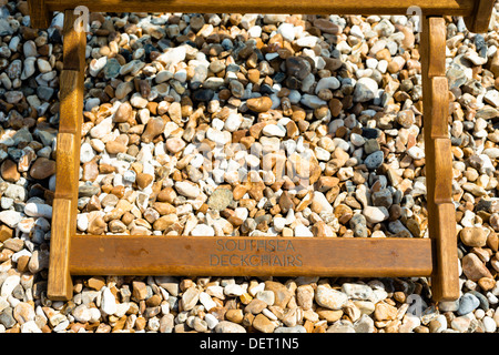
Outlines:
{"type": "Polygon", "coordinates": [[[47,285],[47,294],[53,301],[67,301],[72,297],[69,251],[71,247],[70,236],[75,229],[71,221],[73,207],[71,200],[53,200],[49,282],[47,285]]]}

